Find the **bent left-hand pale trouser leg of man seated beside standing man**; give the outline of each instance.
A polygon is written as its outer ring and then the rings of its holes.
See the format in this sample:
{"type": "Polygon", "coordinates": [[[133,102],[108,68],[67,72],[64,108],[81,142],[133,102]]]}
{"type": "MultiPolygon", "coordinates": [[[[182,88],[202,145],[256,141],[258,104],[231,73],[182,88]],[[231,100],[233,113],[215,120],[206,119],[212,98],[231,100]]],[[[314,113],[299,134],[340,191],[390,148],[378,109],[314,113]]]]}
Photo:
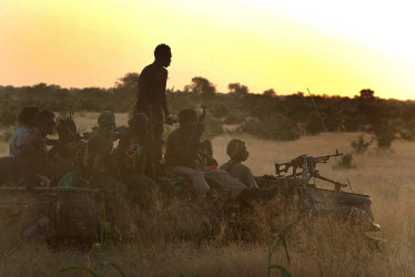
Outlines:
{"type": "Polygon", "coordinates": [[[168,167],[166,173],[171,176],[179,175],[188,178],[192,183],[196,192],[199,203],[202,203],[202,201],[206,196],[208,191],[211,189],[211,187],[204,179],[203,173],[195,171],[193,168],[176,165],[168,167]]]}

